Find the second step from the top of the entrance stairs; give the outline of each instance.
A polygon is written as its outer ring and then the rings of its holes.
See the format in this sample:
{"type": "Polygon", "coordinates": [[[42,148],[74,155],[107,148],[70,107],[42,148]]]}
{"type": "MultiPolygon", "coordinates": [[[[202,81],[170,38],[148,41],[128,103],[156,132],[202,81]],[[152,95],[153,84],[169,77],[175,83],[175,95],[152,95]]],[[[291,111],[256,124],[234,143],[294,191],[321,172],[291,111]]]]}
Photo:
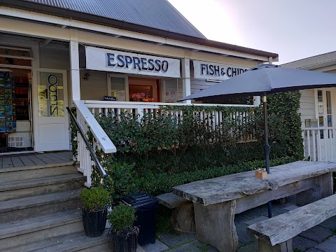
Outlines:
{"type": "Polygon", "coordinates": [[[85,181],[83,174],[77,172],[76,174],[0,183],[0,201],[76,190],[83,187],[85,181]]]}

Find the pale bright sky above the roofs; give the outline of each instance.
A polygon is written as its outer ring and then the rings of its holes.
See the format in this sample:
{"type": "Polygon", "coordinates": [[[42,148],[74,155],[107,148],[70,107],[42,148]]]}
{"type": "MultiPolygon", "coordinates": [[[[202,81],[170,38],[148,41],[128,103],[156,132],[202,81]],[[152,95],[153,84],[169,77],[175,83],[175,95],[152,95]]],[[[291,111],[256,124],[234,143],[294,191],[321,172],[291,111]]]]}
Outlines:
{"type": "Polygon", "coordinates": [[[336,50],[335,0],[168,0],[208,39],[284,64],[336,50]]]}

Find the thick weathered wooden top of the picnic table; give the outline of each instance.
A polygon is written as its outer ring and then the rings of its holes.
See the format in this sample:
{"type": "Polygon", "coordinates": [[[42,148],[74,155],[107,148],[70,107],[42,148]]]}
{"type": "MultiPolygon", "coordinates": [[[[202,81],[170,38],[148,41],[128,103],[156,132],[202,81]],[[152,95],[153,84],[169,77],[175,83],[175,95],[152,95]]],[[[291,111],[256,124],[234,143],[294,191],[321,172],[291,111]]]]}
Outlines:
{"type": "Polygon", "coordinates": [[[195,181],[173,188],[174,195],[207,206],[336,171],[336,162],[297,161],[270,168],[267,179],[255,178],[254,171],[195,181]]]}

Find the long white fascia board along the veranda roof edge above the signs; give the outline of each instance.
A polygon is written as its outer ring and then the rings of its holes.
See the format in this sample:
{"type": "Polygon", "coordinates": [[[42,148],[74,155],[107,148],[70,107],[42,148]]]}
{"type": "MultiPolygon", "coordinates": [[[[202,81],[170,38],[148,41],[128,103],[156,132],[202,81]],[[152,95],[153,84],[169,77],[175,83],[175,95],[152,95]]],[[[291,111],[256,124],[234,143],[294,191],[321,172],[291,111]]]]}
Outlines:
{"type": "Polygon", "coordinates": [[[222,55],[231,55],[236,57],[244,57],[246,59],[255,59],[263,62],[268,62],[268,57],[262,57],[258,55],[251,55],[244,52],[235,52],[231,50],[225,50],[220,48],[214,48],[208,45],[197,45],[190,42],[177,41],[171,38],[162,38],[160,36],[153,36],[148,34],[142,34],[134,31],[127,31],[124,29],[118,29],[113,27],[106,27],[104,25],[96,25],[90,22],[83,22],[78,20],[71,20],[69,18],[60,18],[53,15],[47,15],[42,13],[36,13],[28,10],[20,10],[15,8],[9,8],[0,6],[0,15],[6,15],[9,17],[20,17],[27,20],[35,20],[40,22],[47,22],[55,25],[60,25],[62,27],[72,27],[76,29],[85,29],[90,31],[99,31],[104,34],[111,34],[113,36],[125,36],[129,38],[137,38],[144,41],[151,41],[154,43],[162,43],[167,45],[179,46],[182,48],[188,48],[190,50],[202,50],[206,52],[214,52],[222,55]]]}

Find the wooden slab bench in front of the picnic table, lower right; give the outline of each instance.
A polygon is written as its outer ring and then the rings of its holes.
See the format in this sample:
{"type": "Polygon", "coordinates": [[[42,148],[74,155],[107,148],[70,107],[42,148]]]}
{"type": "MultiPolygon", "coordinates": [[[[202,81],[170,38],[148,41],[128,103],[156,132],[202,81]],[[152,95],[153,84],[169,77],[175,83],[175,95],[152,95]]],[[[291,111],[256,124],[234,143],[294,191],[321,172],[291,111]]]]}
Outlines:
{"type": "Polygon", "coordinates": [[[249,225],[247,231],[258,238],[259,252],[293,251],[292,239],[336,215],[336,195],[249,225]]]}

